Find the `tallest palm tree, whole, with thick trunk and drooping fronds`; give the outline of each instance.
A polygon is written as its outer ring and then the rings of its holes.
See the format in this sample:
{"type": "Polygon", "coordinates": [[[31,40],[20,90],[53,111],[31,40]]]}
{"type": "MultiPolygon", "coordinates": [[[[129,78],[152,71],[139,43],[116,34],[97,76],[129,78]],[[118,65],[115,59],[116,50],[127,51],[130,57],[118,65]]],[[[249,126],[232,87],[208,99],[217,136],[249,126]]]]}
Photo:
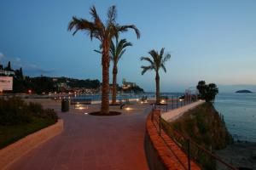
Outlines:
{"type": "Polygon", "coordinates": [[[109,113],[109,48],[111,45],[111,40],[113,37],[118,36],[119,32],[125,32],[129,29],[133,29],[136,32],[137,38],[140,37],[140,32],[136,26],[119,26],[119,24],[117,24],[115,21],[116,14],[117,11],[115,6],[108,8],[108,20],[104,25],[96,12],[95,6],[93,6],[90,8],[90,15],[93,19],[92,21],[73,17],[73,20],[70,21],[67,28],[68,31],[74,30],[73,35],[76,34],[77,31],[86,31],[89,33],[91,40],[96,38],[102,44],[102,114],[109,113]]]}

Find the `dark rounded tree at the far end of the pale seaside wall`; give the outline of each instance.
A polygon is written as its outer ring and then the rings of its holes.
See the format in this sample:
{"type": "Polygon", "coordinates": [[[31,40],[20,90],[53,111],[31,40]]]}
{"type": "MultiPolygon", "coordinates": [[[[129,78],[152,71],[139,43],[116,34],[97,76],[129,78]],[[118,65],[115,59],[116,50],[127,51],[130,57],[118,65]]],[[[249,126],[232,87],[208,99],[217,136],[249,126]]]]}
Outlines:
{"type": "Polygon", "coordinates": [[[201,99],[205,99],[207,102],[213,101],[218,94],[218,87],[214,83],[206,84],[205,81],[200,81],[196,88],[199,91],[201,99]]]}

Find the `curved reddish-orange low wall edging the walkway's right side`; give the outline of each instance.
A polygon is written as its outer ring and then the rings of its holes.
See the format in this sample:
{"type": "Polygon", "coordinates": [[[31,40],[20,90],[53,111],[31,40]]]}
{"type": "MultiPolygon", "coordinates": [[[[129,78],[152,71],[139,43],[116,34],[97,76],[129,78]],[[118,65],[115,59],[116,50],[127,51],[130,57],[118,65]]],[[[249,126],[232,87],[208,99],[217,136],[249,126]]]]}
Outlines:
{"type": "MultiPolygon", "coordinates": [[[[188,156],[163,130],[159,134],[151,120],[152,114],[160,115],[160,111],[153,111],[147,117],[144,147],[148,167],[151,170],[188,169],[188,156]]],[[[190,164],[193,170],[201,169],[194,161],[190,164]]]]}

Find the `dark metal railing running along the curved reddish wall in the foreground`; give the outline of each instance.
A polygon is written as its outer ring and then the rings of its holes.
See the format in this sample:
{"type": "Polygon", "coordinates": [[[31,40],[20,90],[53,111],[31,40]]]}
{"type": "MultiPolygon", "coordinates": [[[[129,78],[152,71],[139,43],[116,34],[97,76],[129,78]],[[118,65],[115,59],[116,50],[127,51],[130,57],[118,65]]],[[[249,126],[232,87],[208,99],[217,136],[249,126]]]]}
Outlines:
{"type": "Polygon", "coordinates": [[[180,161],[184,169],[190,170],[190,162],[191,160],[193,160],[201,167],[201,169],[237,170],[237,168],[233,167],[230,163],[224,161],[219,156],[214,155],[212,151],[207,150],[200,144],[195,143],[195,141],[193,141],[192,139],[189,139],[189,137],[186,137],[182,133],[179,133],[168,122],[162,119],[160,115],[154,114],[154,110],[151,113],[151,121],[153,122],[154,127],[159,132],[161,139],[164,141],[169,150],[172,151],[172,148],[167,144],[166,139],[162,137],[162,131],[165,132],[168,135],[168,137],[170,137],[187,155],[188,162],[184,163],[180,161]]]}

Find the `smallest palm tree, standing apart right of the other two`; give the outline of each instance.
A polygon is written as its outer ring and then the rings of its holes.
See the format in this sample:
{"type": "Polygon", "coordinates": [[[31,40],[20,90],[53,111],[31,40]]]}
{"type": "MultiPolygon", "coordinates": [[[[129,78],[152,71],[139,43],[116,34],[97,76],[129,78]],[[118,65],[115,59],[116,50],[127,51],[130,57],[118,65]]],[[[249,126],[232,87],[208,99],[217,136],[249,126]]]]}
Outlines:
{"type": "Polygon", "coordinates": [[[166,72],[166,61],[171,58],[171,54],[165,54],[165,48],[161,48],[160,54],[152,49],[148,52],[148,54],[151,55],[150,57],[141,57],[141,60],[146,60],[149,62],[150,65],[148,66],[142,66],[142,75],[147,71],[155,71],[155,96],[156,96],[156,104],[160,103],[160,77],[159,77],[159,71],[160,68],[163,69],[163,71],[166,72]]]}

